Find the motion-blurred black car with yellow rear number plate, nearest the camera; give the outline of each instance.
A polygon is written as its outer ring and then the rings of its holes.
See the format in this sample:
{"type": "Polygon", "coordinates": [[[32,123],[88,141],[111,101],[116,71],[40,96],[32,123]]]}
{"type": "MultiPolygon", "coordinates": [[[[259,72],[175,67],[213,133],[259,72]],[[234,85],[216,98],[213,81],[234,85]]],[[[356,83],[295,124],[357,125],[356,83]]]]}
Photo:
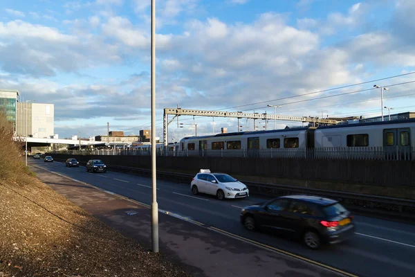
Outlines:
{"type": "Polygon", "coordinates": [[[311,249],[346,240],[355,231],[353,216],[339,202],[308,195],[278,197],[243,208],[241,223],[248,230],[264,228],[301,235],[311,249]]]}

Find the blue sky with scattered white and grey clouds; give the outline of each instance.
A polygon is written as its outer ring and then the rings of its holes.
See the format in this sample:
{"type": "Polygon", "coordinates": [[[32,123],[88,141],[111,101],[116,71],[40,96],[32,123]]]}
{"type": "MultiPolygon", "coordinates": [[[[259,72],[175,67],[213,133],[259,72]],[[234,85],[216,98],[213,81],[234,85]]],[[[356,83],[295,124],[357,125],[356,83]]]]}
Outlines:
{"type": "MultiPolygon", "coordinates": [[[[59,138],[107,134],[107,123],[150,129],[150,3],[1,1],[0,88],[54,104],[59,138]]],[[[412,0],[156,0],[156,135],[175,107],[378,116],[375,84],[389,88],[391,114],[415,111],[414,14],[412,0]]],[[[169,142],[195,124],[198,135],[238,129],[237,119],[181,116],[169,142]]],[[[286,125],[302,123],[277,122],[286,125]]]]}

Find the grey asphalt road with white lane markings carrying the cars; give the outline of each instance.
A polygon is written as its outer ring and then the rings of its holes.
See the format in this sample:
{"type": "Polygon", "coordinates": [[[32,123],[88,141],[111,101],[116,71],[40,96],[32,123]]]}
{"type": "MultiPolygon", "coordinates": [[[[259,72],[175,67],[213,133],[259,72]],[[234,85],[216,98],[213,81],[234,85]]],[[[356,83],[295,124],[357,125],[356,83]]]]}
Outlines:
{"type": "MultiPolygon", "coordinates": [[[[151,204],[151,179],[118,172],[87,173],[84,167],[66,168],[64,163],[41,166],[75,180],[151,204]]],[[[415,276],[415,226],[356,215],[356,236],[342,244],[328,245],[312,251],[293,238],[264,232],[250,232],[239,222],[241,208],[263,202],[263,197],[219,201],[208,195],[194,196],[190,185],[158,180],[158,207],[187,217],[206,226],[282,249],[358,276],[415,276]]]]}

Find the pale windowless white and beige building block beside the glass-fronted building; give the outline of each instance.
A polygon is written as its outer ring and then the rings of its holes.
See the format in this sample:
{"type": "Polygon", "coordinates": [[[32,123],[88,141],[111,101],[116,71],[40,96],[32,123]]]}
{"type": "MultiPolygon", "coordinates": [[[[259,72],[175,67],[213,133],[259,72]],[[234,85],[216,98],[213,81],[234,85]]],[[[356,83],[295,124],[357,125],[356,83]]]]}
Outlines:
{"type": "Polygon", "coordinates": [[[17,136],[50,138],[55,136],[55,106],[36,102],[17,102],[17,136]]]}

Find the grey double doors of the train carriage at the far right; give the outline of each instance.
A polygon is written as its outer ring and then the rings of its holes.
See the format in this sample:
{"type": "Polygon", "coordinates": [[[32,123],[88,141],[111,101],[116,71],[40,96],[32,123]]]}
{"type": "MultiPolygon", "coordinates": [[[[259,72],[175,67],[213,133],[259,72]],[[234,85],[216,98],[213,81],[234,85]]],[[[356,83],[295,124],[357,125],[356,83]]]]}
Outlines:
{"type": "Polygon", "coordinates": [[[411,159],[411,130],[409,128],[384,129],[383,149],[386,159],[411,159]]]}

